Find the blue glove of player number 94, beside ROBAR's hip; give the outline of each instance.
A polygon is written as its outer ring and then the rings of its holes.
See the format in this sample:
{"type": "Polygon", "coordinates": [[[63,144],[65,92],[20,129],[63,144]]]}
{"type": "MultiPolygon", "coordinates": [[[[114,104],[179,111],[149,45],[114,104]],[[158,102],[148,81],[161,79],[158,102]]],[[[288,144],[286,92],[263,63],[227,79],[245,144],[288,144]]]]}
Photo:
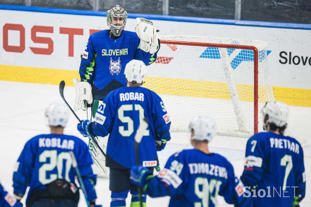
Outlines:
{"type": "Polygon", "coordinates": [[[148,187],[148,181],[152,178],[152,172],[142,166],[134,166],[131,168],[130,180],[131,183],[143,188],[143,192],[148,187]]]}

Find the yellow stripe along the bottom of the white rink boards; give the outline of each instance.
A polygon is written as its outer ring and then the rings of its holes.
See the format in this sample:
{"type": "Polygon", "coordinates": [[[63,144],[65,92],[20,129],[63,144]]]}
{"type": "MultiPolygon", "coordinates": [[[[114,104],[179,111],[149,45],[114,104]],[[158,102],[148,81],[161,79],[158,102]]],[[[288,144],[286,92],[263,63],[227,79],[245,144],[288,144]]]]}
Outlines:
{"type": "MultiPolygon", "coordinates": [[[[36,67],[22,67],[0,65],[0,80],[17,81],[26,83],[39,83],[58,85],[64,80],[67,86],[73,86],[72,79],[80,79],[79,71],[47,69],[36,67]]],[[[230,93],[227,83],[214,81],[196,81],[178,78],[149,77],[145,79],[143,87],[149,88],[158,94],[178,95],[197,98],[230,99],[230,93]]],[[[264,103],[264,98],[269,87],[259,86],[261,95],[259,102],[264,103]],[[264,92],[262,92],[264,91],[264,92]]],[[[311,107],[311,90],[273,87],[272,90],[276,100],[282,101],[292,106],[311,107]]],[[[253,101],[253,85],[237,84],[239,99],[242,101],[253,101]]]]}

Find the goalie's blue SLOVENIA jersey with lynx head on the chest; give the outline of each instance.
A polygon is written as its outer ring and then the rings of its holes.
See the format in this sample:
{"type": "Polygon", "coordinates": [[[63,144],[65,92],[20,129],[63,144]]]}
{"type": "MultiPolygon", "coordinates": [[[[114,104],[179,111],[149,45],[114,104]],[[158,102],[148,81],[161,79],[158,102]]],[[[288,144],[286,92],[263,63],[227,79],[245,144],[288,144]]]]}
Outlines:
{"type": "Polygon", "coordinates": [[[91,34],[81,58],[79,74],[81,81],[103,89],[114,79],[126,86],[125,65],[132,59],[149,65],[156,60],[156,53],[150,54],[138,48],[140,39],[135,32],[124,31],[121,37],[113,39],[109,30],[91,34]]]}

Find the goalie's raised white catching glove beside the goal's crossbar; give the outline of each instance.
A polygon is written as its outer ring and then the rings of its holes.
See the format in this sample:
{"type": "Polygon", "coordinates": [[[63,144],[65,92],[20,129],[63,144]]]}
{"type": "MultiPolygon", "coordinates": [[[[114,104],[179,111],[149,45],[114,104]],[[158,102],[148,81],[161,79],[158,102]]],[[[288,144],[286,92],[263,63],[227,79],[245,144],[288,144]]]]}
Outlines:
{"type": "Polygon", "coordinates": [[[136,18],[135,30],[140,39],[138,48],[150,54],[154,54],[160,49],[160,40],[152,21],[141,17],[136,18]]]}

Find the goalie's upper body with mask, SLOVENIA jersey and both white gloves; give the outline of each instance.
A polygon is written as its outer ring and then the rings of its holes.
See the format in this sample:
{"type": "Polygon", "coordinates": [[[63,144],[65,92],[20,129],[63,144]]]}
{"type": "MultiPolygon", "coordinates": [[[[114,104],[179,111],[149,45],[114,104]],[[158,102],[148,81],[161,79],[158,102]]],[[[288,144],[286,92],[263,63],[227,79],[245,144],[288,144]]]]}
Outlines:
{"type": "MultiPolygon", "coordinates": [[[[127,12],[119,5],[107,13],[109,30],[91,34],[81,58],[79,70],[81,82],[76,85],[74,110],[84,110],[85,101],[103,100],[112,90],[126,86],[125,65],[132,59],[146,65],[155,62],[160,40],[151,21],[136,19],[136,33],[124,30],[127,12]]],[[[96,109],[95,109],[96,111],[96,109]]]]}

